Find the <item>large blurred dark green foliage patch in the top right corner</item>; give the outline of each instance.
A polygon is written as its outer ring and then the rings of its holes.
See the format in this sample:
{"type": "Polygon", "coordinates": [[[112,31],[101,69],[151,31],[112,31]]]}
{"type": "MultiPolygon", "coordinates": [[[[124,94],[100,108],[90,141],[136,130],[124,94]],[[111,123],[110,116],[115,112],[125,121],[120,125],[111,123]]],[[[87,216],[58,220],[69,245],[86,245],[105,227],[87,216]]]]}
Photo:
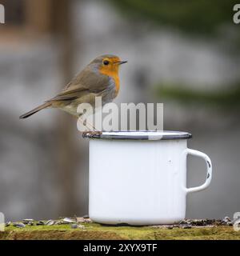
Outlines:
{"type": "Polygon", "coordinates": [[[174,26],[193,34],[209,34],[233,24],[236,0],[111,0],[129,18],[174,26]]]}

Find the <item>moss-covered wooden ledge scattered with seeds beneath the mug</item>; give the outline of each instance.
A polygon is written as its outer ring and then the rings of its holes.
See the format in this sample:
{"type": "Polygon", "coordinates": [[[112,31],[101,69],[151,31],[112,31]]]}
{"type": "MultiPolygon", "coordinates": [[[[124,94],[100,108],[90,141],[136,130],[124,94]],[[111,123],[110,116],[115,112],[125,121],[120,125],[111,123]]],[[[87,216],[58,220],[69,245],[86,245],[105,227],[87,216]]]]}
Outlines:
{"type": "Polygon", "coordinates": [[[204,226],[184,229],[161,226],[103,226],[97,223],[82,223],[77,228],[70,224],[53,226],[7,226],[0,232],[1,240],[62,240],[62,239],[180,239],[180,240],[219,240],[240,239],[240,231],[233,226],[204,226]]]}

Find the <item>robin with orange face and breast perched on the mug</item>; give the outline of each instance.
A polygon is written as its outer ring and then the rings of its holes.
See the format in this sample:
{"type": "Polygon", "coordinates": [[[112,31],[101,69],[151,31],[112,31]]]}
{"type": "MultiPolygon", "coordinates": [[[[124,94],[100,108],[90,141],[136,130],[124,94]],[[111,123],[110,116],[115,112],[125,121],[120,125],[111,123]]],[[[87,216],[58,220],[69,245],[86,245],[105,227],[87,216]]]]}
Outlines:
{"type": "Polygon", "coordinates": [[[111,54],[95,58],[63,88],[60,94],[34,110],[22,114],[20,118],[28,118],[46,108],[57,108],[78,118],[80,114],[77,109],[81,103],[90,103],[94,108],[95,97],[102,97],[102,106],[112,102],[118,95],[118,70],[123,63],[126,61],[121,61],[118,56],[111,54]]]}

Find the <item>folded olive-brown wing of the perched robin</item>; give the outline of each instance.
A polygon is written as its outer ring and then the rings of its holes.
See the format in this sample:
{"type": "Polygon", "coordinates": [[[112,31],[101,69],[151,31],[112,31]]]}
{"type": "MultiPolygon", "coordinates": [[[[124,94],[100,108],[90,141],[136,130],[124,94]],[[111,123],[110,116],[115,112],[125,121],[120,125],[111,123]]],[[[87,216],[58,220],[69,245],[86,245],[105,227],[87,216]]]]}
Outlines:
{"type": "Polygon", "coordinates": [[[86,94],[98,94],[109,86],[109,78],[104,74],[97,74],[87,66],[82,70],[56,97],[47,102],[68,101],[81,98],[86,94]]]}

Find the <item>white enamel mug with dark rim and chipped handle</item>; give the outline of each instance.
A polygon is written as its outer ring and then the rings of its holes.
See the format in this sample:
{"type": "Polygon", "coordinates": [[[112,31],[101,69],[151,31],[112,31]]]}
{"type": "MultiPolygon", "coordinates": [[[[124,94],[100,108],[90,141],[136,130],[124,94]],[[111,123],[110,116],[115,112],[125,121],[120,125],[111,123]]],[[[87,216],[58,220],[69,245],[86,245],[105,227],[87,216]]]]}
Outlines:
{"type": "Polygon", "coordinates": [[[157,225],[180,222],[186,194],[205,190],[210,158],[187,148],[185,132],[103,132],[90,138],[89,216],[105,224],[157,225]],[[186,187],[188,154],[206,162],[206,182],[186,187]]]}

